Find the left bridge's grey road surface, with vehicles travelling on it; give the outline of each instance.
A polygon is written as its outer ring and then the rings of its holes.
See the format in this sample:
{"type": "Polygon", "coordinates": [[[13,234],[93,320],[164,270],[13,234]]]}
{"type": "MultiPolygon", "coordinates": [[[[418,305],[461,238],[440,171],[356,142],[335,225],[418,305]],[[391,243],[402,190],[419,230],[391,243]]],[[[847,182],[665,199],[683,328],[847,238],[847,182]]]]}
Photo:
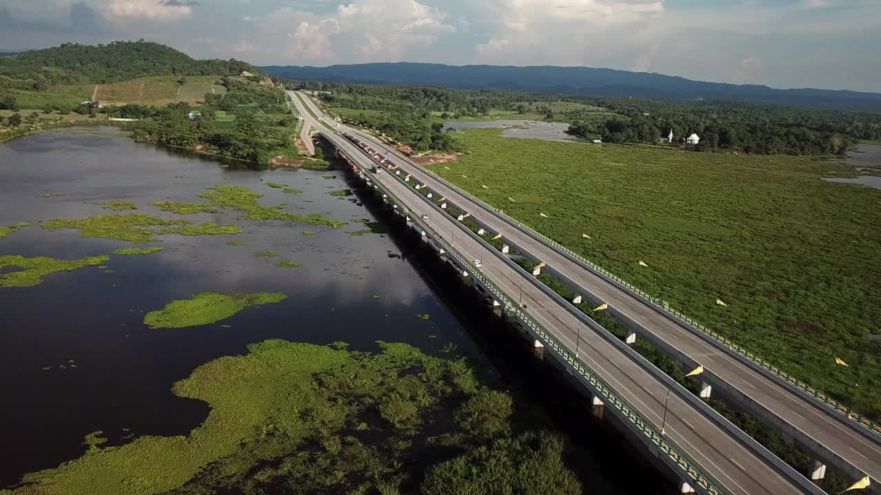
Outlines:
{"type": "MultiPolygon", "coordinates": [[[[293,100],[298,107],[302,106],[296,97],[293,100]]],[[[316,115],[321,115],[316,112],[317,108],[312,110],[316,115]]],[[[300,108],[300,113],[307,120],[315,120],[304,108],[300,108]]],[[[321,122],[313,123],[316,129],[327,129],[327,126],[322,125],[321,122]]],[[[327,131],[323,134],[353,159],[360,157],[366,166],[373,165],[363,151],[344,137],[327,131]]],[[[487,248],[480,241],[464,233],[465,227],[455,218],[433,211],[432,207],[425,203],[426,199],[417,191],[401,184],[396,177],[385,170],[380,174],[372,175],[371,178],[381,181],[408,206],[412,205],[413,211],[422,211],[426,214],[427,223],[436,232],[442,233],[445,239],[468,259],[482,259],[483,274],[501,287],[510,299],[521,299],[522,287],[521,300],[529,314],[542,323],[545,329],[552,331],[573,353],[576,349],[575,341],[579,340],[577,345],[579,355],[588,363],[592,371],[615,388],[628,403],[638,408],[641,415],[653,422],[658,430],[661,429],[664,396],[668,390],[663,381],[648,373],[602,336],[585,329],[576,332],[581,325],[573,314],[536,286],[523,284],[524,277],[529,275],[502,262],[497,257],[500,256],[498,251],[491,247],[487,248]]],[[[714,477],[715,481],[729,493],[779,495],[803,492],[800,487],[790,482],[788,477],[781,475],[750,448],[734,440],[721,426],[676,394],[670,395],[665,430],[670,440],[681,447],[704,472],[714,477]]]]}

